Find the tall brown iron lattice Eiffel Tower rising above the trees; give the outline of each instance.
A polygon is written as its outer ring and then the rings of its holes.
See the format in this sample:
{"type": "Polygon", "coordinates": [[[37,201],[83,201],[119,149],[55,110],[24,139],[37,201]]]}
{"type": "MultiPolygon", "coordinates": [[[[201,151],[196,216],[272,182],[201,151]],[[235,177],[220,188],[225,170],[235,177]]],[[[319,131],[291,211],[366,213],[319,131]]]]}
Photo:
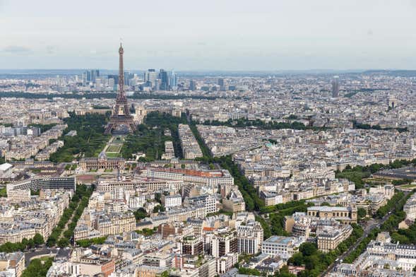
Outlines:
{"type": "Polygon", "coordinates": [[[116,105],[109,118],[109,123],[105,128],[104,134],[129,134],[136,129],[133,117],[130,114],[129,103],[124,94],[124,69],[123,69],[124,49],[120,43],[119,48],[119,93],[117,93],[116,105]]]}

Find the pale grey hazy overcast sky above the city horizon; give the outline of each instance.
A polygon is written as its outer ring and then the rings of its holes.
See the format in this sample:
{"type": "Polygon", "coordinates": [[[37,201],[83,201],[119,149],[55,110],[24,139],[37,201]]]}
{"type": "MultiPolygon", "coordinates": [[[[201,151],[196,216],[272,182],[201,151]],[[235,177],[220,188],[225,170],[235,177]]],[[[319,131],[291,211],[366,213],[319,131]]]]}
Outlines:
{"type": "Polygon", "coordinates": [[[0,69],[416,69],[416,0],[0,0],[0,69]]]}

